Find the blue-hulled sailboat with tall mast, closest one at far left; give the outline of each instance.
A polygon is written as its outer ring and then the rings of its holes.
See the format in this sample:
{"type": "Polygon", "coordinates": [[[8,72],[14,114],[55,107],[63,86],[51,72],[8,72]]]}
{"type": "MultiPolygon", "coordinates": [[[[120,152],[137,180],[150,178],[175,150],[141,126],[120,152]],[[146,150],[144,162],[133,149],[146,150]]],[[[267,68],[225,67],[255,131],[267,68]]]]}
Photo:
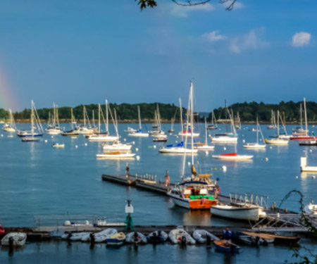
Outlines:
{"type": "Polygon", "coordinates": [[[39,122],[39,115],[37,115],[37,110],[33,100],[31,108],[31,131],[18,131],[17,134],[19,137],[23,137],[22,142],[39,142],[39,137],[42,137],[44,134],[43,127],[39,122]],[[36,129],[39,132],[35,132],[36,129]]]}

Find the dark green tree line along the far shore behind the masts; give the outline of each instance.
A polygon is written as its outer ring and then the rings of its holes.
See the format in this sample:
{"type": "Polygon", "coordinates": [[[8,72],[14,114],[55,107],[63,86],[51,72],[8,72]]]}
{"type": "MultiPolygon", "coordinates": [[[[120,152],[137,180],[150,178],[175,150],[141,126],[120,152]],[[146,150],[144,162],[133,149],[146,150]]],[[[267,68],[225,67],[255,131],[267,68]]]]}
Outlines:
{"type": "MultiPolygon", "coordinates": [[[[280,111],[281,113],[285,113],[285,120],[287,122],[297,122],[300,120],[299,114],[299,105],[302,102],[294,103],[293,101],[284,102],[281,101],[278,104],[272,103],[256,103],[256,102],[244,102],[244,103],[235,103],[228,108],[232,109],[234,115],[237,115],[239,112],[240,120],[242,122],[251,122],[256,120],[256,116],[259,117],[259,120],[262,122],[270,122],[271,120],[271,110],[280,111]]],[[[163,120],[171,120],[175,117],[175,122],[180,120],[180,112],[179,107],[170,103],[110,103],[109,106],[112,109],[116,109],[118,120],[137,120],[137,106],[140,107],[141,118],[142,119],[154,119],[154,111],[156,111],[157,105],[159,106],[159,111],[161,114],[161,118],[163,120]]],[[[94,118],[97,120],[98,118],[98,104],[89,104],[85,105],[87,109],[87,113],[89,115],[89,119],[92,119],[92,113],[94,112],[94,118]]],[[[106,107],[101,106],[102,111],[105,115],[106,107]]],[[[63,120],[70,120],[70,107],[59,107],[58,108],[58,118],[63,120]]],[[[186,109],[183,108],[185,113],[186,109]]],[[[309,121],[317,121],[317,103],[309,101],[306,102],[306,111],[307,118],[309,121]]],[[[216,108],[213,110],[215,113],[216,119],[225,119],[228,117],[228,112],[226,108],[216,108]]],[[[49,119],[49,113],[53,114],[53,108],[40,108],[37,110],[39,114],[39,118],[42,120],[49,119]]],[[[73,114],[76,120],[83,119],[83,105],[76,106],[73,108],[73,114]]],[[[13,117],[15,120],[28,120],[30,119],[31,110],[24,109],[20,112],[13,113],[13,117]]],[[[0,119],[8,119],[9,113],[3,108],[0,108],[0,119]]],[[[304,118],[304,111],[303,111],[304,118]]],[[[209,113],[209,120],[211,120],[211,113],[209,113]]],[[[201,121],[203,119],[201,118],[201,121]]]]}

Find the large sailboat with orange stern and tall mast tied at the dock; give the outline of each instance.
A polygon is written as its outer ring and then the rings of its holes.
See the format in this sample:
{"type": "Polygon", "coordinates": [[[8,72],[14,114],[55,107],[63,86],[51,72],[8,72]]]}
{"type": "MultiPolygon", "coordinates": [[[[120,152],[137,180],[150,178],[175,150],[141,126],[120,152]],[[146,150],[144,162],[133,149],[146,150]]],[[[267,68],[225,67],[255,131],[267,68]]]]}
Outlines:
{"type": "MultiPolygon", "coordinates": [[[[193,122],[192,89],[191,82],[189,107],[187,110],[191,123],[193,122]]],[[[187,120],[186,128],[188,128],[188,124],[189,121],[187,120]]],[[[193,133],[193,131],[191,132],[193,133]]],[[[210,210],[211,206],[215,206],[218,203],[216,199],[216,185],[213,184],[212,180],[210,180],[211,175],[198,175],[196,169],[194,168],[194,137],[192,136],[190,138],[192,139],[192,175],[189,179],[184,179],[186,160],[184,155],[181,176],[182,182],[170,189],[167,192],[167,195],[170,196],[176,206],[191,210],[210,210]]],[[[185,141],[185,146],[187,146],[187,140],[185,141]]]]}

